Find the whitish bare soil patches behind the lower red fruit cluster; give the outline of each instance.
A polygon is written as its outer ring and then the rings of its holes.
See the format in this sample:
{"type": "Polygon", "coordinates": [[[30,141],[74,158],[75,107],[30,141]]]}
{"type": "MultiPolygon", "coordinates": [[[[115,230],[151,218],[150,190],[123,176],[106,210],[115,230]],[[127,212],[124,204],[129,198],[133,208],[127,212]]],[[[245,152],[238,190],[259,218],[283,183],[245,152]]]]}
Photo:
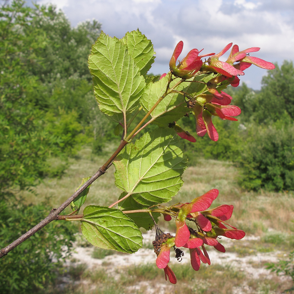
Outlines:
{"type": "MultiPolygon", "coordinates": [[[[152,243],[154,240],[155,231],[151,230],[147,233],[143,233],[143,242],[144,243],[152,243]]],[[[259,240],[260,237],[256,236],[245,236],[242,241],[246,243],[250,243],[250,240],[259,240]]],[[[220,241],[225,248],[230,248],[232,245],[238,246],[238,240],[230,240],[227,238],[222,238],[220,241]]],[[[211,264],[220,264],[220,265],[230,265],[233,268],[240,270],[251,279],[258,279],[260,275],[273,275],[270,273],[270,270],[265,269],[264,263],[266,262],[277,262],[277,256],[280,255],[279,251],[275,252],[266,252],[260,253],[257,252],[252,255],[239,257],[238,253],[235,252],[219,252],[214,248],[210,248],[206,246],[208,249],[208,254],[211,260],[211,264]]],[[[181,248],[182,249],[182,248],[181,248]]],[[[185,248],[184,248],[185,249],[185,248]]],[[[136,253],[128,254],[128,253],[117,253],[113,255],[108,255],[103,259],[93,258],[91,255],[93,253],[93,247],[76,247],[74,253],[72,254],[72,258],[74,258],[76,263],[84,263],[88,266],[88,268],[95,268],[97,266],[105,268],[108,272],[111,271],[114,274],[115,270],[121,267],[131,266],[131,265],[141,265],[147,263],[154,263],[156,260],[156,255],[152,249],[139,249],[136,253]]],[[[190,263],[189,251],[184,250],[185,256],[181,263],[190,263]]],[[[171,250],[171,260],[170,265],[172,267],[173,264],[178,263],[176,258],[174,257],[174,253],[171,250]]],[[[201,266],[207,266],[205,264],[201,264],[201,266]]]]}

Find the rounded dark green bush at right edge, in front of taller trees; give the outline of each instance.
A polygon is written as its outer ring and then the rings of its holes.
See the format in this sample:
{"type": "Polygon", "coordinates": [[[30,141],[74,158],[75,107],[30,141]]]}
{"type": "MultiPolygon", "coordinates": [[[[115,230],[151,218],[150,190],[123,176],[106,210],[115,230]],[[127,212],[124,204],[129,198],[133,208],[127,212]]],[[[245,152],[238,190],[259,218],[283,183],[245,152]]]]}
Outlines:
{"type": "Polygon", "coordinates": [[[294,189],[294,124],[253,126],[236,163],[240,185],[248,190],[294,189]]]}

